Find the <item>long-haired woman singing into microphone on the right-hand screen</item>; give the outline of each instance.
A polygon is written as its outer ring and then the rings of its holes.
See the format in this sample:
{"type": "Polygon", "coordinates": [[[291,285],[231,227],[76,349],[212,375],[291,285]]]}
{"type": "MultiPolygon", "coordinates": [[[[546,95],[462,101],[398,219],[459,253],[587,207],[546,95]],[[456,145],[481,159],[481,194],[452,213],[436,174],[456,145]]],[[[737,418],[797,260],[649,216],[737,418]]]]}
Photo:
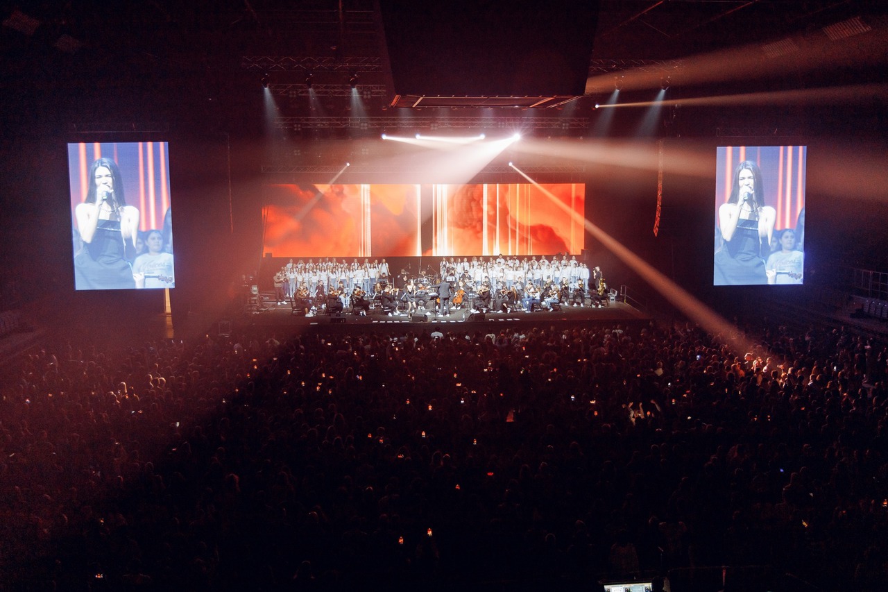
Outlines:
{"type": "Polygon", "coordinates": [[[724,244],[715,253],[713,284],[767,284],[764,257],[770,252],[776,211],[765,205],[758,165],[745,160],[733,172],[731,196],[718,207],[724,244]]]}

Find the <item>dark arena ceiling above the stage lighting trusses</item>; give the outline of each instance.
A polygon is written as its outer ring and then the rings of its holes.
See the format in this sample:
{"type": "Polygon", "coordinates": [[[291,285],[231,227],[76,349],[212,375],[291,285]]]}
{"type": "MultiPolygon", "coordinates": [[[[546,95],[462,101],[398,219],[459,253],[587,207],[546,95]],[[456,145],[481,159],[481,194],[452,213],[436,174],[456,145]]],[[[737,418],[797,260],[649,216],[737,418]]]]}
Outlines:
{"type": "Polygon", "coordinates": [[[623,71],[675,85],[688,57],[779,59],[812,36],[886,28],[884,3],[865,0],[47,0],[0,18],[4,86],[85,73],[224,95],[253,76],[292,97],[357,85],[384,106],[455,108],[550,108],[623,71]]]}

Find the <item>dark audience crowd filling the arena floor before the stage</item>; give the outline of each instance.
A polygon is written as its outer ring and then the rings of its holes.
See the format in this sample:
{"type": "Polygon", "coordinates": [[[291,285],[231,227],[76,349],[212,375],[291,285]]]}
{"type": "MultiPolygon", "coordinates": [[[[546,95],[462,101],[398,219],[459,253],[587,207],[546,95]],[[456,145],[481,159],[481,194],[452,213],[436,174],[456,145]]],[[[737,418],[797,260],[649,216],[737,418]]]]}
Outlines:
{"type": "Polygon", "coordinates": [[[0,585],[888,581],[884,342],[461,329],[34,350],[4,371],[0,585]]]}

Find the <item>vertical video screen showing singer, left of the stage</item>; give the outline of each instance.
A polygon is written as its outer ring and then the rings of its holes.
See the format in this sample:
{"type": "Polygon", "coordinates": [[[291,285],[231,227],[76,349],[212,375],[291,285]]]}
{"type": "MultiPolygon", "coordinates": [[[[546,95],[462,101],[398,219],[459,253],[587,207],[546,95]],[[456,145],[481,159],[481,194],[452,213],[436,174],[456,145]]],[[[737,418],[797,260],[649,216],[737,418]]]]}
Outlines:
{"type": "Polygon", "coordinates": [[[67,145],[76,290],[172,288],[166,142],[67,145]]]}

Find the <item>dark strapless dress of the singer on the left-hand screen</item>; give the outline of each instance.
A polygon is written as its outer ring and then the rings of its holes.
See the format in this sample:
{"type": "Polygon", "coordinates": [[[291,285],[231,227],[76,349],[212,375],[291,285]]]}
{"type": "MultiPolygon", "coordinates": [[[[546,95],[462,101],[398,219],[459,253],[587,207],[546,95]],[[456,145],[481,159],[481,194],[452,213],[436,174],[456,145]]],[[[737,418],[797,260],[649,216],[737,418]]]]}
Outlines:
{"type": "Polygon", "coordinates": [[[99,220],[91,243],[74,258],[77,290],[135,288],[130,262],[126,260],[120,220],[99,220]]]}

